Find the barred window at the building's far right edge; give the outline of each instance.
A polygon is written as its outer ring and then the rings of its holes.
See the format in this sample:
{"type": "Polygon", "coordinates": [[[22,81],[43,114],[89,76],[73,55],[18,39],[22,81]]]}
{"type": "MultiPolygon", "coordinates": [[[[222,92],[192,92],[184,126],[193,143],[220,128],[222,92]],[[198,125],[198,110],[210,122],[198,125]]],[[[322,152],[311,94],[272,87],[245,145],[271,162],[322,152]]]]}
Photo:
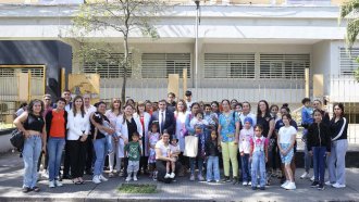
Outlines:
{"type": "Polygon", "coordinates": [[[359,48],[351,48],[347,51],[341,48],[341,75],[354,75],[354,72],[359,67],[356,59],[359,56],[359,48]]]}

